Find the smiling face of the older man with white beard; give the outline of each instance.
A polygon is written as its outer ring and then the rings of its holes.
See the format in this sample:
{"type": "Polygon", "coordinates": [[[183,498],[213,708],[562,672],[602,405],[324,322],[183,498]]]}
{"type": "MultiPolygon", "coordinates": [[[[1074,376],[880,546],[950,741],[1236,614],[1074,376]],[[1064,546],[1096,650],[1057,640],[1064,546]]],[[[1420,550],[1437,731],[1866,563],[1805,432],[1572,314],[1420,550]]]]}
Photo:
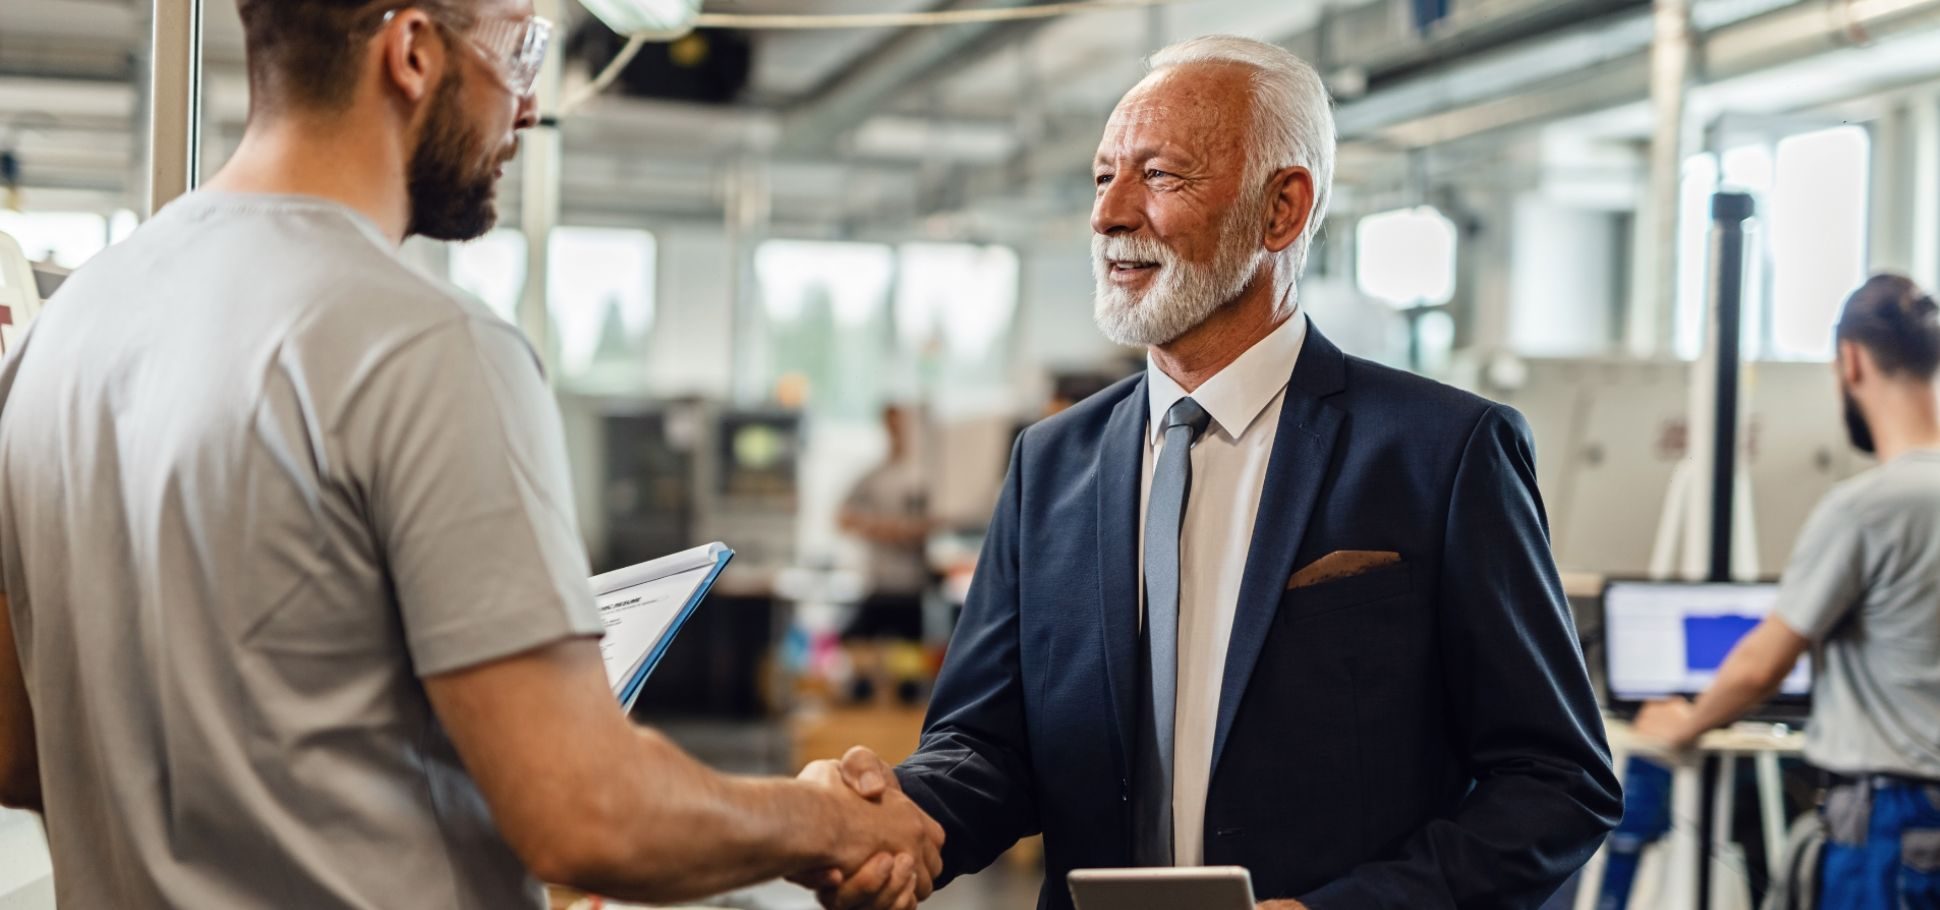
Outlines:
{"type": "Polygon", "coordinates": [[[1092,274],[1098,328],[1162,345],[1240,297],[1265,250],[1265,186],[1247,186],[1251,76],[1160,70],[1133,87],[1098,146],[1092,274]]]}

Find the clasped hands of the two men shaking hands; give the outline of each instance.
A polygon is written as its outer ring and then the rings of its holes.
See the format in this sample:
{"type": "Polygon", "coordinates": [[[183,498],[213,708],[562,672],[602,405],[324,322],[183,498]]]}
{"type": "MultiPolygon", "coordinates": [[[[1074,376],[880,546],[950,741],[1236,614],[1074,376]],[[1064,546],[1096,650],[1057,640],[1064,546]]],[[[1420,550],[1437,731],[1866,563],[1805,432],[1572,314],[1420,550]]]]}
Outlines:
{"type": "Polygon", "coordinates": [[[836,796],[836,863],[788,881],[815,891],[826,910],[916,910],[929,898],[943,873],[943,827],[902,796],[881,757],[857,745],[799,780],[836,796]]]}

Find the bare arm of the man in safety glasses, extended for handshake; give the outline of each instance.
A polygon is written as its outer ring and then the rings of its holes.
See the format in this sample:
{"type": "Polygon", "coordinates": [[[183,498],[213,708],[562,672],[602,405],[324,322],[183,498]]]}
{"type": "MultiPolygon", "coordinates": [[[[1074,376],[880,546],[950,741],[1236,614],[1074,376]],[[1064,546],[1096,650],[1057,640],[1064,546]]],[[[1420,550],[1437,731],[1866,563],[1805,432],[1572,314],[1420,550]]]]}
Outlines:
{"type": "Polygon", "coordinates": [[[555,885],[677,904],[875,854],[927,860],[941,842],[900,794],[731,778],[629,726],[590,640],[433,675],[425,691],[506,842],[555,885]]]}

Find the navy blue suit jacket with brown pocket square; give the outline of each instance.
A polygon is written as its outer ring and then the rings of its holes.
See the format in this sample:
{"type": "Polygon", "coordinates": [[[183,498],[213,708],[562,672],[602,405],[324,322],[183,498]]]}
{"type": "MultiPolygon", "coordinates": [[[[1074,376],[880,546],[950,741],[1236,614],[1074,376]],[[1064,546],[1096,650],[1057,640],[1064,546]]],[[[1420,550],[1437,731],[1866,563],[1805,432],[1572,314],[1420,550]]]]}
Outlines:
{"type": "MultiPolygon", "coordinates": [[[[1131,865],[1145,378],[1018,439],[904,790],[945,881],[1131,865]]],[[[1313,910],[1535,908],[1622,813],[1513,409],[1310,332],[1226,658],[1205,861],[1313,910]],[[1399,565],[1288,590],[1335,551],[1399,565]]]]}

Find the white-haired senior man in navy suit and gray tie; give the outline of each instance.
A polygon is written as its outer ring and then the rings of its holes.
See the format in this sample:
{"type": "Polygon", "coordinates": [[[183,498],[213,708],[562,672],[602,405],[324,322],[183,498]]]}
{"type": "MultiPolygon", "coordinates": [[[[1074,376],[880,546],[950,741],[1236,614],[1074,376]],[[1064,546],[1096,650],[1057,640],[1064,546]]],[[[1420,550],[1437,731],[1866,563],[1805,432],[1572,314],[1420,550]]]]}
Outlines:
{"type": "Polygon", "coordinates": [[[1042,832],[1040,908],[1199,863],[1271,910],[1535,908],[1616,825],[1521,415],[1298,312],[1333,146],[1245,39],[1112,114],[1096,318],[1150,365],[1018,439],[922,749],[846,763],[943,825],[941,881],[1042,832]]]}

